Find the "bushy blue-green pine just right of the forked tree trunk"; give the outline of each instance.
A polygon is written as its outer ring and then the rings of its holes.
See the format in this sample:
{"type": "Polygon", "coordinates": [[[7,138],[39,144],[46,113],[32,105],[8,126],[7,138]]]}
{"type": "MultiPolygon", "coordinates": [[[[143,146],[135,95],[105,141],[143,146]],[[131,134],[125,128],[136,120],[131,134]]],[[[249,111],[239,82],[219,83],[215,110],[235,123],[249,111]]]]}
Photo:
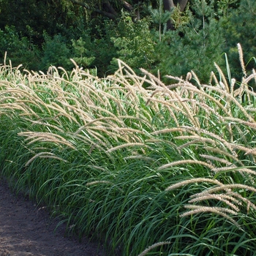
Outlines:
{"type": "Polygon", "coordinates": [[[156,69],[162,75],[183,77],[193,70],[207,83],[214,61],[223,63],[222,28],[213,17],[212,2],[197,1],[192,11],[194,15],[187,11],[189,23],[178,26],[176,31],[167,31],[155,45],[156,69]]]}

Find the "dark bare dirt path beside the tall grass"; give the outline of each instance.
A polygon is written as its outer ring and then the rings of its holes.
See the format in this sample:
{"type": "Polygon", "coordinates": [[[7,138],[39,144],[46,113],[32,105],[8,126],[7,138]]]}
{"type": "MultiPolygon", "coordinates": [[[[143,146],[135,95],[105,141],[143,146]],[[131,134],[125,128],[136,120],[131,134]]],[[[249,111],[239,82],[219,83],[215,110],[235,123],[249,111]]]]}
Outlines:
{"type": "Polygon", "coordinates": [[[45,210],[13,195],[0,180],[0,256],[105,256],[103,249],[86,238],[81,243],[64,237],[64,225],[50,221],[45,210]]]}

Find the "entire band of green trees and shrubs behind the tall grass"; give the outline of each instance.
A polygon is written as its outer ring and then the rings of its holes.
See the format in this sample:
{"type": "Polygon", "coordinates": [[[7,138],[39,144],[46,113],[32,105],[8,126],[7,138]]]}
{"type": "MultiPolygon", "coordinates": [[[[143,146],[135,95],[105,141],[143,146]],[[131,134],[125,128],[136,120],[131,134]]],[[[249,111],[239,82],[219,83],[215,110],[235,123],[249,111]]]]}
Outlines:
{"type": "Polygon", "coordinates": [[[113,73],[115,59],[121,59],[162,76],[186,76],[193,69],[207,82],[214,61],[225,65],[223,53],[233,75],[241,77],[240,42],[246,65],[255,65],[253,0],[191,0],[184,12],[164,11],[162,0],[129,1],[127,8],[121,2],[1,1],[0,57],[7,51],[14,65],[43,71],[49,65],[70,69],[72,58],[81,67],[97,68],[101,77],[113,73]],[[175,30],[167,30],[170,18],[175,30]]]}

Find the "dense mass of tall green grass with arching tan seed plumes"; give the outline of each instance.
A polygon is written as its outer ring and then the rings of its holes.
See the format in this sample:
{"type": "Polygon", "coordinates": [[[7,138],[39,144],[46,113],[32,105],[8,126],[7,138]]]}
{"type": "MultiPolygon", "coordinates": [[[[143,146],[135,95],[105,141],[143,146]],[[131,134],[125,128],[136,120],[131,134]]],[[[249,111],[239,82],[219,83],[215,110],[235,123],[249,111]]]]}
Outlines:
{"type": "Polygon", "coordinates": [[[1,175],[110,255],[252,255],[256,73],[215,67],[166,85],[4,62],[1,175]]]}

